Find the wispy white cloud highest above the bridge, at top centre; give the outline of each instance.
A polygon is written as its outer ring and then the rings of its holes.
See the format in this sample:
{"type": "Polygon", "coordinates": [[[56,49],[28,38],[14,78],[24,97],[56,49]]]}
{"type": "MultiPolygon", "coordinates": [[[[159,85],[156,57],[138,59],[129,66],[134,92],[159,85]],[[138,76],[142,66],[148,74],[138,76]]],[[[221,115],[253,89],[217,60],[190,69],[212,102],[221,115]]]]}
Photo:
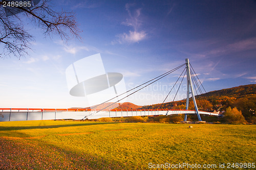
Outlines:
{"type": "Polygon", "coordinates": [[[142,25],[141,20],[141,8],[136,9],[132,12],[131,8],[135,6],[135,4],[126,4],[125,9],[129,15],[129,18],[126,18],[126,21],[122,22],[122,25],[132,27],[133,30],[130,30],[129,33],[118,34],[117,40],[112,41],[112,44],[115,43],[134,43],[144,40],[147,37],[147,33],[143,30],[140,30],[142,25]]]}

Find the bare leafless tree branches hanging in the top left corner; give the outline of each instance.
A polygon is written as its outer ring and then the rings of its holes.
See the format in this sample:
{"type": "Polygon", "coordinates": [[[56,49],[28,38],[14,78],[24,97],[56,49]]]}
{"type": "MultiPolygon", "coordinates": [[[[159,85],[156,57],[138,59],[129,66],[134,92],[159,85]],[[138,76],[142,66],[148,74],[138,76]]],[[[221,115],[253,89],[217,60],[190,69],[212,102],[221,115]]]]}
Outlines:
{"type": "Polygon", "coordinates": [[[28,54],[34,37],[24,28],[26,21],[44,31],[45,36],[58,35],[62,40],[80,39],[73,12],[56,12],[51,0],[0,0],[0,46],[2,56],[20,57],[28,54]],[[9,4],[8,4],[9,3],[9,4]]]}

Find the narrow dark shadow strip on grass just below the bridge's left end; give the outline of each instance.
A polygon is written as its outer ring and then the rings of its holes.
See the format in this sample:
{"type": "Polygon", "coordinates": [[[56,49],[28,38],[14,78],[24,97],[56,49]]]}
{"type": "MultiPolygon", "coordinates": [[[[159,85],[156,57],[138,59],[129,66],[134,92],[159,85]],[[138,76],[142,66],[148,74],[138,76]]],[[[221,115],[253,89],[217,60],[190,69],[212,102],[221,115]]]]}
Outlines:
{"type": "Polygon", "coordinates": [[[25,129],[51,129],[51,128],[61,128],[61,127],[76,127],[76,126],[92,126],[92,125],[105,125],[105,124],[119,124],[116,122],[87,122],[84,124],[70,124],[70,125],[49,125],[49,126],[13,126],[13,127],[3,127],[0,126],[0,131],[6,131],[6,130],[25,130],[25,129]]]}

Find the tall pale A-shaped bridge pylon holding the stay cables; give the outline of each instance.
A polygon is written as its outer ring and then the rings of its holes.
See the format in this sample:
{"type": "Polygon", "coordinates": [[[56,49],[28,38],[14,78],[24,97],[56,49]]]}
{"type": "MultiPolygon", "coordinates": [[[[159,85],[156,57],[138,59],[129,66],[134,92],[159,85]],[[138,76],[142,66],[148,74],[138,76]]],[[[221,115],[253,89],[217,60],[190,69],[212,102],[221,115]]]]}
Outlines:
{"type": "MultiPolygon", "coordinates": [[[[185,59],[186,61],[186,71],[187,71],[187,101],[186,101],[186,110],[188,110],[188,103],[189,103],[189,94],[191,93],[192,98],[193,98],[193,102],[195,105],[195,110],[196,110],[196,114],[198,117],[199,121],[202,121],[199,111],[198,111],[198,107],[197,107],[197,102],[195,99],[195,95],[194,95],[194,90],[193,90],[193,86],[192,86],[192,82],[191,82],[191,75],[190,75],[190,67],[189,67],[189,60],[188,58],[185,59]]],[[[187,114],[185,114],[184,117],[184,121],[187,121],[187,114]]]]}

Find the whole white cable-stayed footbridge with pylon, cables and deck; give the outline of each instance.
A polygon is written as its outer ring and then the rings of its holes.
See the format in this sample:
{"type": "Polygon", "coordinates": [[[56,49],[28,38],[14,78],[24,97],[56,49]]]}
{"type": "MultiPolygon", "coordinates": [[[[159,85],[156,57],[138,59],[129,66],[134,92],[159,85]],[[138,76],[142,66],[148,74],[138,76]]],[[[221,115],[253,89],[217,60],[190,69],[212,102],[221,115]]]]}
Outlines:
{"type": "MultiPolygon", "coordinates": [[[[51,120],[51,119],[86,119],[86,118],[96,119],[96,118],[101,118],[101,117],[125,117],[125,116],[171,115],[171,114],[185,114],[184,121],[186,121],[188,114],[197,114],[199,121],[202,121],[200,114],[219,116],[219,114],[217,114],[217,113],[211,113],[211,112],[207,112],[207,111],[199,111],[198,110],[198,106],[197,106],[195,95],[194,95],[193,85],[195,87],[197,94],[198,94],[197,91],[199,91],[199,93],[203,94],[200,86],[202,86],[203,89],[204,89],[204,87],[203,87],[202,83],[200,82],[199,78],[197,77],[197,74],[196,74],[195,70],[193,69],[193,67],[191,67],[192,71],[190,70],[191,65],[189,63],[189,60],[186,59],[185,61],[186,62],[184,64],[182,64],[170,71],[165,72],[165,74],[162,74],[162,75],[160,75],[154,79],[151,79],[150,81],[147,81],[131,90],[128,90],[120,95],[117,95],[115,98],[112,98],[108,101],[105,101],[105,102],[99,104],[99,105],[105,104],[106,102],[109,102],[111,100],[118,99],[118,97],[120,97],[123,94],[131,92],[129,95],[124,96],[122,99],[117,100],[116,102],[111,103],[108,106],[106,106],[100,110],[96,110],[93,108],[91,108],[90,110],[88,110],[88,109],[0,108],[0,122],[19,121],[19,120],[51,120]],[[142,110],[113,110],[113,109],[106,110],[108,107],[112,106],[113,104],[120,102],[121,100],[123,100],[123,99],[127,98],[128,96],[134,94],[135,92],[145,88],[146,86],[151,85],[154,82],[164,78],[165,76],[171,74],[172,72],[178,70],[179,68],[181,68],[183,66],[185,66],[185,68],[183,69],[183,71],[182,71],[180,77],[178,78],[178,80],[176,81],[175,85],[177,84],[177,82],[179,81],[179,79],[181,78],[181,76],[183,75],[183,72],[184,72],[184,75],[180,82],[179,88],[181,86],[181,83],[182,83],[185,75],[186,75],[187,99],[186,99],[186,109],[185,110],[163,110],[163,109],[161,109],[162,105],[160,106],[160,109],[158,109],[158,110],[143,110],[143,109],[142,110]],[[201,85],[199,85],[199,84],[201,84],[201,85]],[[138,88],[138,89],[135,90],[136,88],[138,88]],[[132,92],[132,90],[135,90],[135,91],[132,92]],[[193,99],[195,110],[188,110],[189,94],[191,94],[191,97],[193,99]]],[[[174,86],[173,86],[173,88],[174,88],[174,86]]],[[[169,91],[168,95],[173,90],[173,88],[169,91]]],[[[179,88],[176,92],[176,95],[179,91],[179,88]]],[[[205,91],[205,89],[204,89],[204,91],[205,91]]],[[[175,95],[175,97],[176,97],[176,95],[175,95]]],[[[167,99],[167,96],[166,96],[165,100],[167,99]]],[[[173,101],[175,100],[175,97],[174,97],[173,101]]],[[[165,102],[165,100],[163,101],[163,103],[165,102]]],[[[99,105],[97,105],[97,106],[99,106],[99,105]]],[[[95,106],[95,107],[97,107],[97,106],[95,106]]]]}

